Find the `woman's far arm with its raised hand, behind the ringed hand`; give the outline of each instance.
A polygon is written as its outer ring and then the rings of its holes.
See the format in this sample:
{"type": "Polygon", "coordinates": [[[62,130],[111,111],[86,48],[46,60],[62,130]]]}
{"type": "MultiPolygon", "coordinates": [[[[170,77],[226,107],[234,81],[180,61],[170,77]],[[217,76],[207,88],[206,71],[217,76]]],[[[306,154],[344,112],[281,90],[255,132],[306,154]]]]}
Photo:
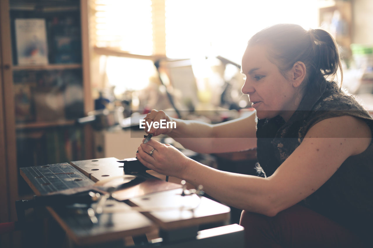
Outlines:
{"type": "Polygon", "coordinates": [[[154,121],[162,119],[175,121],[176,128],[154,129],[152,127],[147,133],[153,133],[155,136],[167,134],[186,149],[195,152],[237,152],[256,147],[256,115],[254,111],[248,117],[214,125],[201,121],[171,118],[163,111],[156,110],[152,110],[146,118],[151,118],[154,121]]]}

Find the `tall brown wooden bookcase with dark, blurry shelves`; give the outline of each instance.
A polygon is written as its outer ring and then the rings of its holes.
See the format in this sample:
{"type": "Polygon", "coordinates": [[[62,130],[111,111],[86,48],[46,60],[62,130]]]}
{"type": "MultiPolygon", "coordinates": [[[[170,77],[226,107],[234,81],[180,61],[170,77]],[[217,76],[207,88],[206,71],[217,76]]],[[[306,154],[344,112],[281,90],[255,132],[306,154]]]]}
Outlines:
{"type": "MultiPolygon", "coordinates": [[[[29,196],[19,167],[93,158],[93,131],[75,125],[93,110],[88,0],[1,0],[0,20],[0,222],[10,222],[29,196]],[[32,18],[45,20],[48,63],[19,64],[15,19],[32,18]]],[[[0,247],[22,242],[2,235],[0,247]]]]}

